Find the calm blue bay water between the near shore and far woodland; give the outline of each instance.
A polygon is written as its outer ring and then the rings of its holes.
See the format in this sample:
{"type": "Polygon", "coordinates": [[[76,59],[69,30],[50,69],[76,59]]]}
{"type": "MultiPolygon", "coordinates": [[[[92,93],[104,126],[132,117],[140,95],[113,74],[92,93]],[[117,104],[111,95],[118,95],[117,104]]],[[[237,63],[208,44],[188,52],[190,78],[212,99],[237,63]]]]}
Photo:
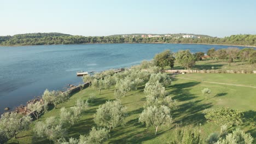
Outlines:
{"type": "MultiPolygon", "coordinates": [[[[4,107],[26,104],[46,88],[62,90],[82,83],[76,71],[102,71],[130,67],[155,53],[189,49],[206,52],[211,47],[190,44],[83,44],[0,47],[0,113],[4,107]]],[[[242,48],[242,47],[239,47],[242,48]]]]}

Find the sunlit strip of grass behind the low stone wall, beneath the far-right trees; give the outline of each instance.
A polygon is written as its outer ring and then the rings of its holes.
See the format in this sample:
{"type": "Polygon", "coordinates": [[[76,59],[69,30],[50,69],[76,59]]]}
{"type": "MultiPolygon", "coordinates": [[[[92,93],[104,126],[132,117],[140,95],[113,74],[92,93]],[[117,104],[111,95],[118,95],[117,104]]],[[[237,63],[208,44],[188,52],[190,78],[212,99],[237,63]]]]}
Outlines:
{"type": "MultiPolygon", "coordinates": [[[[197,61],[196,65],[192,69],[224,69],[224,70],[252,70],[252,67],[248,62],[241,62],[239,59],[235,61],[235,63],[231,63],[229,66],[228,61],[223,60],[203,60],[203,61],[197,61]]],[[[180,67],[179,65],[174,65],[174,69],[184,69],[180,67]]],[[[256,67],[254,65],[254,70],[256,70],[256,67]]]]}

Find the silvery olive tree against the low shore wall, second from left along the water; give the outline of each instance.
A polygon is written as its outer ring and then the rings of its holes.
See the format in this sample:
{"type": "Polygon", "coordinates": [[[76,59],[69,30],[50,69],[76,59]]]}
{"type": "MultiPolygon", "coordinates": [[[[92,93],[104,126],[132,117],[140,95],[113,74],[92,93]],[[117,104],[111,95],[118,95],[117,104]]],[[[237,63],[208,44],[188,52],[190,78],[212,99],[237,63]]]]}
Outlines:
{"type": "Polygon", "coordinates": [[[58,104],[61,104],[69,99],[69,93],[61,91],[48,91],[48,89],[46,89],[42,95],[42,99],[44,100],[44,103],[53,104],[54,109],[56,109],[58,104]]]}

